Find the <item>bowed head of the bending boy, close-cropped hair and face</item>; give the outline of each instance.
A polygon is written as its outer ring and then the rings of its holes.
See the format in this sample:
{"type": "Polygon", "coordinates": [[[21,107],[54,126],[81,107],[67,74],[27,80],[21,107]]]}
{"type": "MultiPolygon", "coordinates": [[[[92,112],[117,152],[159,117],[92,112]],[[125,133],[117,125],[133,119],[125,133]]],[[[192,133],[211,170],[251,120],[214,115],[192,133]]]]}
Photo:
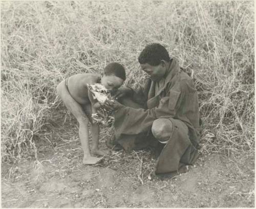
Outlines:
{"type": "Polygon", "coordinates": [[[117,62],[112,62],[105,66],[101,84],[108,90],[114,90],[119,88],[125,79],[124,67],[117,62]]]}

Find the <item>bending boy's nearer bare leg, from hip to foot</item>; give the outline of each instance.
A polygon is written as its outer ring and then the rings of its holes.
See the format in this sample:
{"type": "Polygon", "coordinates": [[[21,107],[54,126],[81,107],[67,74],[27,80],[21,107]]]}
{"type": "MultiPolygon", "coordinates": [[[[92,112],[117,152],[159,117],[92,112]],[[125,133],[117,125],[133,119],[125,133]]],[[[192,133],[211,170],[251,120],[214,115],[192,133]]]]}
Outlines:
{"type": "Polygon", "coordinates": [[[78,104],[69,94],[68,89],[65,85],[65,81],[62,81],[57,86],[57,94],[62,99],[65,106],[71,111],[74,117],[79,123],[79,137],[83,150],[83,164],[93,165],[100,161],[102,158],[93,157],[90,154],[89,149],[89,136],[88,136],[88,124],[89,119],[86,113],[84,113],[80,104],[78,104]]]}

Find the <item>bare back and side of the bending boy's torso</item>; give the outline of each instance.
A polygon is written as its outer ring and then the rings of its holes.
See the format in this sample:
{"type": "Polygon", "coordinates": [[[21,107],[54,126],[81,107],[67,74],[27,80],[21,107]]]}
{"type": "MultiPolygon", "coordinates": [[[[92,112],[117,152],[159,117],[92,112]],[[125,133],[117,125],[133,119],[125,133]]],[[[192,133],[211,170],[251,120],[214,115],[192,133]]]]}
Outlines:
{"type": "Polygon", "coordinates": [[[90,104],[87,84],[99,82],[100,74],[84,73],[71,76],[68,80],[70,95],[80,105],[90,104]]]}

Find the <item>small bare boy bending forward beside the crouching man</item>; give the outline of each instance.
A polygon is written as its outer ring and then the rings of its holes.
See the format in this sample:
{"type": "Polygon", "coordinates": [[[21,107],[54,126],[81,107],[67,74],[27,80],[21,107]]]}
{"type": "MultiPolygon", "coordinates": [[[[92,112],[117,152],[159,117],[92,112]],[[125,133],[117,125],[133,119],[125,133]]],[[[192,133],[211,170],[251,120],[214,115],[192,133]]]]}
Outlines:
{"type": "Polygon", "coordinates": [[[102,157],[94,157],[91,154],[103,156],[106,152],[99,150],[99,125],[92,122],[91,114],[99,107],[88,90],[87,85],[101,83],[109,91],[119,88],[125,80],[124,67],[116,62],[108,64],[104,68],[104,74],[84,73],[71,76],[57,86],[57,94],[65,106],[72,112],[79,123],[79,137],[83,150],[83,164],[93,165],[102,157]],[[91,123],[92,149],[89,148],[88,125],[91,123]]]}

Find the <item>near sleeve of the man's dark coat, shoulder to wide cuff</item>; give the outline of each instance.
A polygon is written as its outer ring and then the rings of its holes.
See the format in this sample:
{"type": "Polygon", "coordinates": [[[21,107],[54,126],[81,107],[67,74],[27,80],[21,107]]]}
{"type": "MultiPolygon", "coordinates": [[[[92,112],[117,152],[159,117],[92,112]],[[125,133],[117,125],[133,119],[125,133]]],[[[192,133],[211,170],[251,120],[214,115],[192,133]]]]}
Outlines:
{"type": "Polygon", "coordinates": [[[184,87],[185,85],[177,90],[170,89],[168,94],[160,100],[159,105],[152,109],[120,108],[114,114],[116,131],[138,134],[150,129],[154,120],[158,118],[174,118],[182,104],[184,87]]]}

